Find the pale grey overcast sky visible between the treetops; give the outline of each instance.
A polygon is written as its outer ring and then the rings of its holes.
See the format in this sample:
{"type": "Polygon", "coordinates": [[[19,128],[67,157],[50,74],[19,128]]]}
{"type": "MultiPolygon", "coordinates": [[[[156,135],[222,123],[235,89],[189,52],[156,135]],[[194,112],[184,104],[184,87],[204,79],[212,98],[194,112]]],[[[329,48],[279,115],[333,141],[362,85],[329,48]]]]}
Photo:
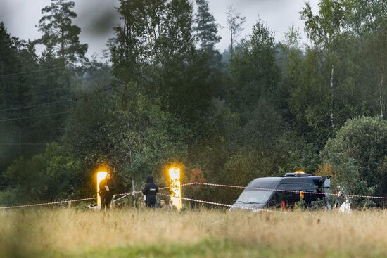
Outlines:
{"type": "MultiPolygon", "coordinates": [[[[118,0],[73,0],[78,18],[75,20],[81,28],[81,43],[89,44],[87,56],[106,49],[106,41],[113,37],[113,27],[120,22],[114,7],[118,0]]],[[[222,40],[217,45],[220,51],[229,46],[229,32],[226,26],[227,6],[233,5],[237,12],[246,16],[241,37],[250,34],[252,26],[261,18],[275,31],[277,41],[283,39],[284,32],[294,24],[300,29],[301,41],[307,42],[303,33],[303,22],[300,20],[304,0],[210,0],[210,11],[221,25],[219,34],[222,40]]],[[[42,8],[50,4],[50,0],[0,0],[0,21],[3,21],[11,35],[20,39],[37,39],[37,23],[42,17],[42,8]]],[[[310,0],[312,8],[317,9],[317,0],[310,0]]]]}

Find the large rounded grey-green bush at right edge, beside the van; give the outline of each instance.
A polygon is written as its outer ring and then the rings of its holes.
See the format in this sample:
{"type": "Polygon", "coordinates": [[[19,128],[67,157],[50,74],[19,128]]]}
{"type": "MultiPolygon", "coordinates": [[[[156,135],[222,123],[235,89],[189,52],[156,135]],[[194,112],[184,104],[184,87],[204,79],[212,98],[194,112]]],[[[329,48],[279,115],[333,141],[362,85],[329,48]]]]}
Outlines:
{"type": "Polygon", "coordinates": [[[322,157],[333,167],[335,180],[348,193],[385,196],[386,143],[386,120],[355,118],[348,120],[336,137],[326,143],[322,157]]]}

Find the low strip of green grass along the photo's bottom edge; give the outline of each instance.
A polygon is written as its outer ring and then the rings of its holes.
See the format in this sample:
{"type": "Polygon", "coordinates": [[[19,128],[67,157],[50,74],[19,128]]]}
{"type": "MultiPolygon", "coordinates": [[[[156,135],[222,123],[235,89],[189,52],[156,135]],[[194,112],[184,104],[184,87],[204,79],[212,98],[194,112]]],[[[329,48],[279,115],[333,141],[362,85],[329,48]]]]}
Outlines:
{"type": "MultiPolygon", "coordinates": [[[[296,249],[282,249],[265,245],[253,245],[252,243],[235,243],[231,240],[203,240],[194,244],[165,243],[144,246],[122,246],[94,250],[83,250],[82,252],[44,252],[37,254],[42,258],[228,258],[228,257],[260,257],[260,258],[302,258],[302,257],[329,257],[346,258],[357,257],[351,250],[310,250],[308,247],[296,249]]],[[[362,257],[382,258],[386,254],[375,250],[362,257]]]]}

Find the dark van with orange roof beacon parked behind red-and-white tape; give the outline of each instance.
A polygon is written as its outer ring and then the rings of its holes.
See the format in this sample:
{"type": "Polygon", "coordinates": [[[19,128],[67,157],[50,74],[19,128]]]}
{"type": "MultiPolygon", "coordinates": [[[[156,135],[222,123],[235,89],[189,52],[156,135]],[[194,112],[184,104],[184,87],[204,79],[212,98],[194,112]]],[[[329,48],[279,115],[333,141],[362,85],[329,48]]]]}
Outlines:
{"type": "Polygon", "coordinates": [[[312,176],[303,172],[286,173],[284,177],[263,177],[254,179],[243,190],[233,209],[293,209],[303,200],[304,207],[310,207],[313,201],[326,201],[331,180],[326,176],[312,176]],[[321,193],[321,194],[314,194],[321,193]]]}

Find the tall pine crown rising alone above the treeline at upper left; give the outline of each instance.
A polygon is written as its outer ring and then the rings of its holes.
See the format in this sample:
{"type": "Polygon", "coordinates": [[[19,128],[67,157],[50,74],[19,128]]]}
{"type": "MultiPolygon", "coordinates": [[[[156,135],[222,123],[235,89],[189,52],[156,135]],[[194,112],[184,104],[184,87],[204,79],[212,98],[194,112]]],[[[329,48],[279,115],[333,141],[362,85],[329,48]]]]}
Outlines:
{"type": "Polygon", "coordinates": [[[77,18],[71,11],[74,5],[73,1],[51,0],[51,5],[42,9],[38,25],[43,35],[37,42],[52,49],[63,65],[84,60],[87,52],[87,44],[80,44],[80,27],[72,25],[72,19],[77,18]]]}

